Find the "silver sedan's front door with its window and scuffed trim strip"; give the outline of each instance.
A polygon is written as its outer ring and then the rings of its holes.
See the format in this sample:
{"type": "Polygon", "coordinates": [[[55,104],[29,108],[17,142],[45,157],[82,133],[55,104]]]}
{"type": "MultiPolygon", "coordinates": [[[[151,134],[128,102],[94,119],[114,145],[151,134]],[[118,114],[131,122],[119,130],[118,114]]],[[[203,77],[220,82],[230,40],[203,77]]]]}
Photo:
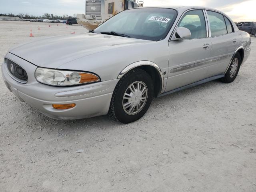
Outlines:
{"type": "Polygon", "coordinates": [[[203,11],[187,12],[182,16],[178,27],[188,28],[191,37],[169,42],[168,80],[165,91],[174,90],[206,78],[211,40],[206,36],[203,11]]]}

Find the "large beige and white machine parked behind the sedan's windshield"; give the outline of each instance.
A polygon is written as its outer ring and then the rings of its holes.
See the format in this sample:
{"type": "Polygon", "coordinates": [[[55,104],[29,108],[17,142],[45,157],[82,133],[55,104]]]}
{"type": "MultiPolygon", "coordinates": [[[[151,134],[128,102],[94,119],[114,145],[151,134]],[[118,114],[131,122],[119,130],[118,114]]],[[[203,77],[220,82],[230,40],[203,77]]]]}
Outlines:
{"type": "Polygon", "coordinates": [[[143,7],[143,1],[135,0],[86,0],[85,13],[76,14],[78,24],[88,30],[94,30],[99,24],[115,14],[130,8],[143,7]]]}

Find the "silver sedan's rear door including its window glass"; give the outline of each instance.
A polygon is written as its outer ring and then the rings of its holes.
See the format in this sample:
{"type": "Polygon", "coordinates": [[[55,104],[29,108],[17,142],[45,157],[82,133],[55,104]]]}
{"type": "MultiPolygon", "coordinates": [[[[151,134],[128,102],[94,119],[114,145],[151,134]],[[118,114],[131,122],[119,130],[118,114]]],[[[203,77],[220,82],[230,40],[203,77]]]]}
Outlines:
{"type": "Polygon", "coordinates": [[[206,10],[209,26],[209,36],[212,44],[211,62],[207,76],[223,74],[238,47],[238,34],[226,16],[206,10]]]}

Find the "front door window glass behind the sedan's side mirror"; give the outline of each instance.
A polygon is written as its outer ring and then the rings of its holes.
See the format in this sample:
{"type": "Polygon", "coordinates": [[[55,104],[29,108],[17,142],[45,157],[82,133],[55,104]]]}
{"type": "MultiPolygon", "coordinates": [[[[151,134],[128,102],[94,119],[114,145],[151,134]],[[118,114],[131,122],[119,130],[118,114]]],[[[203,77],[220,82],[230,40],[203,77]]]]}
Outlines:
{"type": "Polygon", "coordinates": [[[190,39],[205,38],[206,24],[202,10],[193,10],[187,12],[181,19],[178,27],[185,27],[190,30],[190,39]]]}

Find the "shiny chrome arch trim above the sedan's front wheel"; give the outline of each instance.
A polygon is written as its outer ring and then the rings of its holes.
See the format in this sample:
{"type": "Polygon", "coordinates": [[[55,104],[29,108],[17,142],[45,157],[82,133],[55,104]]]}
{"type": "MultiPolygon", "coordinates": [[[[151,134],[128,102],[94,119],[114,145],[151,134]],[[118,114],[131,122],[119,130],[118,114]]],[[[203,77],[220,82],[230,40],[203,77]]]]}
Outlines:
{"type": "Polygon", "coordinates": [[[162,85],[162,89],[161,89],[161,92],[163,92],[164,90],[164,76],[163,76],[163,73],[162,73],[162,70],[160,69],[160,67],[155,64],[154,62],[151,62],[151,61],[138,61],[138,62],[134,62],[128,66],[126,66],[118,75],[118,79],[122,78],[122,76],[124,76],[124,74],[126,74],[128,71],[132,70],[133,68],[136,68],[138,66],[153,66],[157,72],[158,72],[158,75],[160,76],[161,78],[161,85],[162,85]]]}

